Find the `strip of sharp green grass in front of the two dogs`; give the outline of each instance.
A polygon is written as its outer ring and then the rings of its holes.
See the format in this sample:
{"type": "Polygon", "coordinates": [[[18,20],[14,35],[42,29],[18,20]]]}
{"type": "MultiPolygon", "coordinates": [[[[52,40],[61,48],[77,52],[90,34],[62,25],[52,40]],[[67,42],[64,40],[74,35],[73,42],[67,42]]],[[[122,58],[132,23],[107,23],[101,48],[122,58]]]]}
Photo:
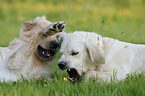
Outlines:
{"type": "Polygon", "coordinates": [[[53,81],[33,80],[13,83],[0,83],[1,95],[4,96],[144,96],[145,77],[129,76],[120,82],[94,82],[70,84],[55,77],[53,81]]]}

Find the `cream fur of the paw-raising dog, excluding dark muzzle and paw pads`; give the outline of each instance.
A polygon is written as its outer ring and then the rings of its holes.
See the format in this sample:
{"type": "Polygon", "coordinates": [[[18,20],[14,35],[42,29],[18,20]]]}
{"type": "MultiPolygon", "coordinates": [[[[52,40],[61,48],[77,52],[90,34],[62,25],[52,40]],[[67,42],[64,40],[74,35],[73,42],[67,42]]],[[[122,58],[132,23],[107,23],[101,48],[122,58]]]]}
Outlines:
{"type": "MultiPolygon", "coordinates": [[[[15,38],[8,47],[0,47],[0,80],[16,81],[24,79],[47,77],[50,79],[51,67],[49,61],[37,58],[34,52],[37,46],[49,44],[58,34],[42,38],[51,22],[45,16],[27,21],[20,31],[20,38],[15,38]]],[[[45,45],[48,46],[48,45],[45,45]]]]}

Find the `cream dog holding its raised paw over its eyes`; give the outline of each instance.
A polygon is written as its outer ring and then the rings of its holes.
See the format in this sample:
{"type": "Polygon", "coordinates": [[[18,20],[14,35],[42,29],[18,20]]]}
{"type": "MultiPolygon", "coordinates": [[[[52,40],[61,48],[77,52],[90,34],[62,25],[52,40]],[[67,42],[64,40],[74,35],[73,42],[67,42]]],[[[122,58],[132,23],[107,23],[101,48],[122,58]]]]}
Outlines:
{"type": "Polygon", "coordinates": [[[52,23],[45,16],[27,21],[20,30],[20,38],[15,38],[8,47],[0,47],[0,80],[16,81],[22,77],[50,79],[51,67],[59,43],[57,38],[64,29],[65,22],[52,23]]]}

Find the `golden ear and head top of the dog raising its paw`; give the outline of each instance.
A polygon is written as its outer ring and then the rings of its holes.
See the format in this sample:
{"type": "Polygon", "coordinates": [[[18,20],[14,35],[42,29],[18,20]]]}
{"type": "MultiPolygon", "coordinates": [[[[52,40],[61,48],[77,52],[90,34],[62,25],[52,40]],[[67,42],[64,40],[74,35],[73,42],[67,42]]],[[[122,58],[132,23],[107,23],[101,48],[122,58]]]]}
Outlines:
{"type": "Polygon", "coordinates": [[[28,41],[33,35],[47,28],[49,24],[51,24],[51,22],[46,20],[45,16],[37,17],[33,21],[26,21],[23,23],[20,30],[20,38],[24,41],[28,41]]]}

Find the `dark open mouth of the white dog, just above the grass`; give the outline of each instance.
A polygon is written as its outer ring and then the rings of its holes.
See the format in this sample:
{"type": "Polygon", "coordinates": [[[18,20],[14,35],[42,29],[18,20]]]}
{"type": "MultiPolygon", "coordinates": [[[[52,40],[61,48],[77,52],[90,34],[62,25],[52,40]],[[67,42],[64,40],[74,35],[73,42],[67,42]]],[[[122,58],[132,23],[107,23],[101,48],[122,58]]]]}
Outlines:
{"type": "Polygon", "coordinates": [[[69,74],[68,79],[72,82],[75,83],[81,81],[81,76],[78,74],[77,70],[75,68],[72,69],[67,69],[67,73],[69,74]]]}

